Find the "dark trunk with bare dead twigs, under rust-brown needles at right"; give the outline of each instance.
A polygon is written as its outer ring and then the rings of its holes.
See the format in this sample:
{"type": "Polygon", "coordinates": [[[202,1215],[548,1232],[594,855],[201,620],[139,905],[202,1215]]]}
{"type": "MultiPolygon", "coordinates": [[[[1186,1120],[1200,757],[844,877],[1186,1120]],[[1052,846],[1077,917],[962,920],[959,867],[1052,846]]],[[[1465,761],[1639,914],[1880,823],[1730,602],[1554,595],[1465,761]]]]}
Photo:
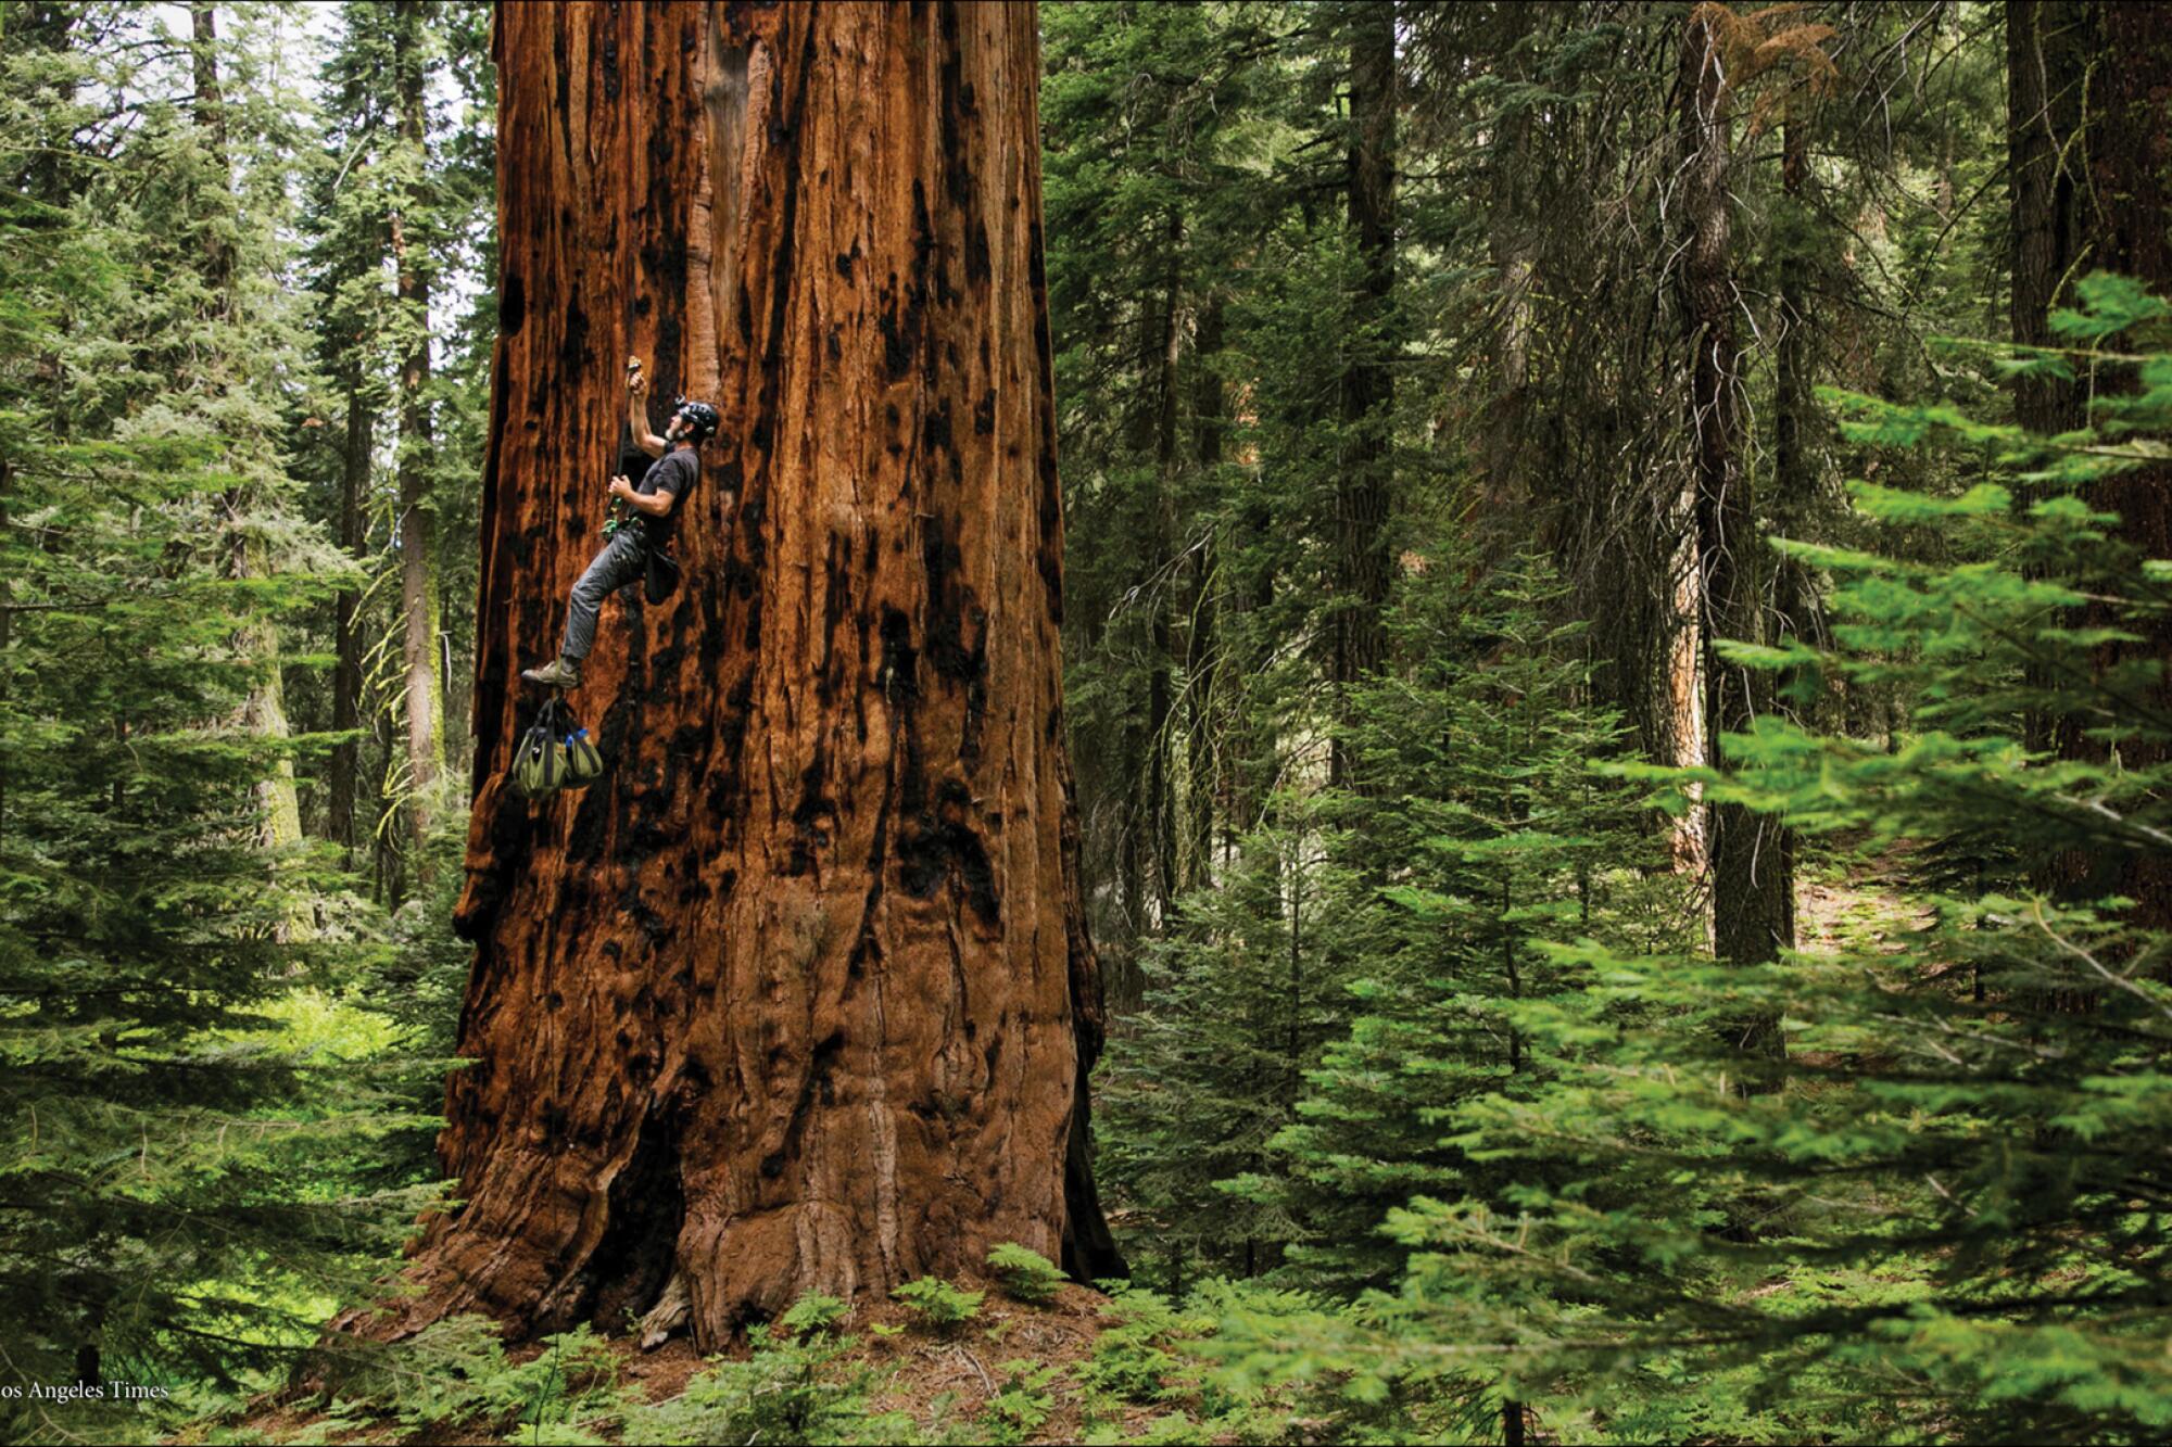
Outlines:
{"type": "MultiPolygon", "coordinates": [[[[1690,435],[1696,474],[1696,552],[1705,600],[1705,719],[1714,767],[1725,767],[1722,730],[1744,732],[1772,708],[1770,676],[1731,665],[1712,643],[1764,641],[1751,474],[1742,463],[1742,350],[1735,341],[1735,282],[1727,196],[1729,119],[1718,46],[1709,22],[1694,17],[1681,52],[1681,206],[1690,235],[1683,252],[1683,324],[1690,335],[1690,435]]],[[[1722,960],[1753,965],[1794,945],[1794,882],[1772,821],[1740,804],[1714,804],[1712,939],[1722,960]]],[[[1777,1049],[1770,1021],[1746,1026],[1746,1047],[1777,1049]]]]}

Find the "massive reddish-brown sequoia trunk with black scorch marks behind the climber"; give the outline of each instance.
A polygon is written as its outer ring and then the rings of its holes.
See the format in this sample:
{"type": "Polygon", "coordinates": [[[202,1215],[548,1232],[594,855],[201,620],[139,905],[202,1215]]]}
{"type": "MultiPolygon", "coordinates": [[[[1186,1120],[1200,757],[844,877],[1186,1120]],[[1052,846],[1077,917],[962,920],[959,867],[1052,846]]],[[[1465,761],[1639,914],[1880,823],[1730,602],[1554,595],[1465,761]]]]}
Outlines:
{"type": "MultiPolygon", "coordinates": [[[[497,13],[502,337],[469,882],[424,1295],[519,1330],[671,1284],[695,1345],[806,1291],[1119,1269],[1058,621],[1036,15],[497,13]],[[608,773],[513,741],[597,550],[621,363],[712,398],[684,582],[606,606],[608,773]]],[[[662,417],[658,415],[658,421],[662,417]]]]}

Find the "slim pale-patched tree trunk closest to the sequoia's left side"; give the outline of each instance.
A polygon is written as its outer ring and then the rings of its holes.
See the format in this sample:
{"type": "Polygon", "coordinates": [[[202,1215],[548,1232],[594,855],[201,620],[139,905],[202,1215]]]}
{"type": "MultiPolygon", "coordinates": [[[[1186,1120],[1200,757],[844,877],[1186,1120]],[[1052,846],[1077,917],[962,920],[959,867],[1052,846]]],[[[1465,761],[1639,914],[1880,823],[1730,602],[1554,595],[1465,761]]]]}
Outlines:
{"type": "MultiPolygon", "coordinates": [[[[400,0],[393,30],[393,78],[400,96],[400,141],[417,165],[424,159],[421,2],[400,0]]],[[[411,185],[408,200],[417,198],[411,185]]],[[[400,313],[411,328],[400,358],[400,617],[406,674],[408,836],[413,884],[428,882],[430,797],[445,767],[445,730],[437,687],[437,528],[430,511],[430,259],[415,232],[415,217],[395,211],[391,252],[400,313]]]]}

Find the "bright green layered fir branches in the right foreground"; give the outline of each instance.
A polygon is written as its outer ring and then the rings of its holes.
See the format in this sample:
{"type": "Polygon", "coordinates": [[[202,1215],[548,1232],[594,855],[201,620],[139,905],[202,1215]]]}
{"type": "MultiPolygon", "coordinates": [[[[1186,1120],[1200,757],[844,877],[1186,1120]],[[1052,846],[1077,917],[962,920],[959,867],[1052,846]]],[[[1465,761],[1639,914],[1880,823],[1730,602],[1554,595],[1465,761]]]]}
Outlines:
{"type": "MultiPolygon", "coordinates": [[[[2165,315],[2120,282],[2083,298],[2079,348],[2165,315]]],[[[1542,1399],[1605,1440],[2163,1438],[2172,945],[2074,880],[2161,858],[2172,826],[2163,660],[2107,654],[2157,626],[2172,571],[2087,498],[2155,456],[2122,439],[2172,426],[2172,358],[2094,361],[2139,387],[2061,439],[1846,402],[1859,439],[1987,443],[2018,487],[1857,485],[1872,524],[1935,524],[1968,561],[1790,545],[1840,580],[1835,645],[1731,650],[1901,684],[1920,732],[1887,752],[1768,719],[1699,776],[1835,845],[1968,839],[2005,865],[1914,895],[1883,945],[1764,969],[1549,947],[1557,986],[1499,1006],[1542,1084],[1453,1110],[1453,1149],[1507,1184],[1390,1212],[1401,1288],[1275,1328],[1255,1369],[1473,1421],[1542,1399]],[[1788,1032],[1757,1089],[1722,1030],[1744,1012],[1788,1032]]]]}

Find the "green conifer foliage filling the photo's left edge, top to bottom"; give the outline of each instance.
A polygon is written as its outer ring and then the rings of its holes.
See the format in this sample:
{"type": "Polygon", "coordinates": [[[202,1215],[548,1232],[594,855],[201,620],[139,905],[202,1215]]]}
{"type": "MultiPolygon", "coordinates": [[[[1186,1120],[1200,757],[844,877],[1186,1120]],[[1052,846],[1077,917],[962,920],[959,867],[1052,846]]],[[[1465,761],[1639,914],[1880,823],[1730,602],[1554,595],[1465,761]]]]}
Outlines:
{"type": "Polygon", "coordinates": [[[0,61],[26,178],[0,189],[0,1436],[113,1440],[306,1345],[434,1195],[348,1171],[434,1121],[289,1028],[356,960],[315,936],[321,856],[278,821],[295,741],[258,710],[276,624],[332,576],[243,515],[276,450],[239,341],[278,324],[252,287],[213,337],[193,269],[152,265],[152,211],[172,250],[222,235],[174,106],[39,178],[87,104],[54,76],[93,78],[39,35],[0,61]]]}

